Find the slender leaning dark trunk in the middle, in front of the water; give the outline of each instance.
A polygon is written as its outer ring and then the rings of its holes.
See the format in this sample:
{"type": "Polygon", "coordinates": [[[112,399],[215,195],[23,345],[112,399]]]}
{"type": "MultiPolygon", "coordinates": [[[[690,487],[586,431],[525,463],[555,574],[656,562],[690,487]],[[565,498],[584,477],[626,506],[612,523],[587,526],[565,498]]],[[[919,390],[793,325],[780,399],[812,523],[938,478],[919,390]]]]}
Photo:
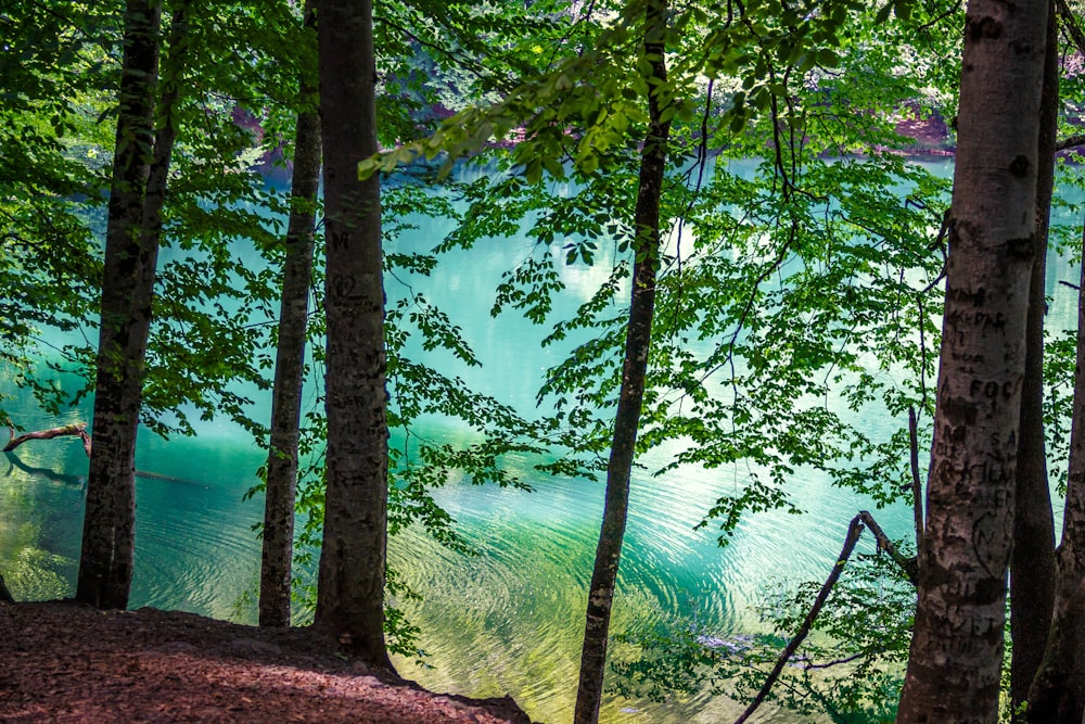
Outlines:
{"type": "Polygon", "coordinates": [[[666,85],[664,61],[666,0],[649,0],[644,18],[644,56],[651,65],[648,98],[650,123],[640,161],[635,221],[637,240],[633,271],[629,322],[626,330],[622,388],[618,392],[607,468],[607,497],[602,529],[596,548],[596,563],[588,589],[588,606],[580,653],[580,676],[576,691],[575,724],[599,721],[611,608],[617,584],[618,562],[629,508],[629,475],[636,454],[648,353],[651,346],[652,317],[655,312],[655,274],[660,253],[660,200],[666,172],[669,120],[662,120],[661,91],[666,85]]]}

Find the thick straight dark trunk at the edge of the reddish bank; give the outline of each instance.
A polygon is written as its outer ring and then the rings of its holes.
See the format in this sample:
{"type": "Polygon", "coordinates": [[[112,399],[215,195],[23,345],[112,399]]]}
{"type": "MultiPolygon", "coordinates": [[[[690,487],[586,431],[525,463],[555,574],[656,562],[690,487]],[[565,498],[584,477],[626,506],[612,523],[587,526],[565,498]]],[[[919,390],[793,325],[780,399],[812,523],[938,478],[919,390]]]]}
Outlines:
{"type": "Polygon", "coordinates": [[[328,247],[328,492],[316,622],[391,669],[384,644],[388,425],[371,0],[319,0],[328,247]]]}

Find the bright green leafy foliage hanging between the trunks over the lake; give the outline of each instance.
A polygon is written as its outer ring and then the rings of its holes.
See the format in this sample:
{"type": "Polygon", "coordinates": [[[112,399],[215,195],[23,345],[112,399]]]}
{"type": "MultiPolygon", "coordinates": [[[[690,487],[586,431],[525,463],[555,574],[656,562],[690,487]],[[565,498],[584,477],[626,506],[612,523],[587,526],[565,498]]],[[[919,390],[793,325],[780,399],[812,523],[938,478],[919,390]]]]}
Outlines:
{"type": "MultiPolygon", "coordinates": [[[[219,3],[193,17],[192,81],[181,89],[148,357],[143,419],[161,434],[192,434],[197,419],[225,415],[265,437],[252,401],[273,365],[289,202],[264,174],[289,160],[283,139],[314,103],[299,92],[299,80],[314,78],[315,58],[314,43],[298,40],[311,29],[302,28],[295,5],[219,3]],[[254,167],[258,160],[263,167],[254,167]]],[[[29,360],[44,330],[95,323],[118,12],[116,2],[38,0],[12,0],[0,11],[0,289],[9,291],[0,295],[0,361],[23,369],[22,382],[53,410],[68,401],[49,376],[31,374],[29,360]]],[[[654,87],[644,80],[652,59],[642,51],[640,0],[407,0],[382,3],[378,13],[380,128],[390,151],[360,173],[387,174],[390,239],[409,228],[412,213],[457,224],[432,250],[387,254],[390,283],[409,285],[446,253],[482,254],[494,239],[525,231],[536,244],[507,270],[490,312],[523,315],[547,329],[545,344],[570,351],[547,371],[540,411],[527,419],[425,356],[480,363],[455,310],[414,289],[393,295],[388,421],[401,441],[391,454],[393,534],[421,525],[442,545],[472,550],[433,492],[460,478],[524,486],[506,466],[510,456],[570,478],[604,469],[636,247],[637,139],[650,91],[673,124],[675,160],[639,439],[641,454],[669,457],[651,472],[700,466],[733,480],[702,521],[718,526],[722,542],[743,516],[800,512],[790,481],[809,472],[879,505],[909,501],[905,412],[915,405],[924,421],[933,412],[945,261],[939,230],[948,193],[937,174],[901,155],[916,143],[896,122],[953,117],[958,5],[684,3],[663,38],[668,79],[654,87]],[[486,173],[446,176],[435,191],[434,172],[447,175],[463,156],[486,173]],[[554,314],[565,291],[562,262],[603,271],[564,319],[554,314]],[[885,424],[847,422],[856,412],[885,424]],[[430,439],[421,422],[432,420],[455,420],[470,434],[430,439]]],[[[1068,78],[1070,107],[1080,105],[1081,82],[1068,78]]],[[[1064,234],[1060,243],[1077,239],[1064,234]]],[[[321,282],[318,271],[314,289],[321,282]]],[[[318,384],[316,295],[308,374],[318,384]]],[[[80,395],[91,389],[91,336],[62,351],[61,366],[86,376],[80,395]]],[[[1069,338],[1051,340],[1049,359],[1049,419],[1065,419],[1069,338]]],[[[322,523],[319,394],[303,428],[299,615],[312,600],[322,523]]],[[[1061,453],[1064,429],[1048,431],[1051,450],[1061,453]]],[[[875,706],[894,698],[910,594],[879,558],[845,576],[819,636],[777,694],[795,711],[877,721],[891,715],[875,706]]],[[[628,632],[625,643],[643,656],[620,662],[620,687],[628,687],[621,690],[752,690],[813,590],[779,595],[761,611],[766,633],[749,639],[728,634],[716,645],[720,634],[678,619],[628,632]]],[[[413,596],[390,570],[391,648],[421,658],[419,632],[399,608],[413,596]]]]}

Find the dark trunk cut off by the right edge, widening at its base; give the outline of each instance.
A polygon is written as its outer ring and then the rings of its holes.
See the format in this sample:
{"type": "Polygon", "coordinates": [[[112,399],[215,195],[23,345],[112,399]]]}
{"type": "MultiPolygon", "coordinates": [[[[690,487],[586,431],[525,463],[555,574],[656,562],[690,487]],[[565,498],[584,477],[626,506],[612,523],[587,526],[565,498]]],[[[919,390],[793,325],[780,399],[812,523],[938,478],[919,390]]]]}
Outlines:
{"type": "Polygon", "coordinates": [[[1067,507],[1056,556],[1055,618],[1044,661],[1029,694],[1031,724],[1081,724],[1085,720],[1085,268],[1081,281],[1067,507]]]}

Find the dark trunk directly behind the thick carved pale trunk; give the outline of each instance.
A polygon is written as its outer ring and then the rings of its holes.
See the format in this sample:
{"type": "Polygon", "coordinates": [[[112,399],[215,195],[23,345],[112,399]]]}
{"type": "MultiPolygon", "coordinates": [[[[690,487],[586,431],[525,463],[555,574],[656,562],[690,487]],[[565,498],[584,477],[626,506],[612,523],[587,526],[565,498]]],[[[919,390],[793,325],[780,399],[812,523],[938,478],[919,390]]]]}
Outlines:
{"type": "Polygon", "coordinates": [[[1010,559],[1010,701],[1013,710],[1044,658],[1055,606],[1055,515],[1044,445],[1044,314],[1047,310],[1047,231],[1055,188],[1055,142],[1059,128],[1059,48],[1056,14],[1047,18],[1047,52],[1041,96],[1036,167],[1036,256],[1029,287],[1021,433],[1018,436],[1017,508],[1010,559]]]}

